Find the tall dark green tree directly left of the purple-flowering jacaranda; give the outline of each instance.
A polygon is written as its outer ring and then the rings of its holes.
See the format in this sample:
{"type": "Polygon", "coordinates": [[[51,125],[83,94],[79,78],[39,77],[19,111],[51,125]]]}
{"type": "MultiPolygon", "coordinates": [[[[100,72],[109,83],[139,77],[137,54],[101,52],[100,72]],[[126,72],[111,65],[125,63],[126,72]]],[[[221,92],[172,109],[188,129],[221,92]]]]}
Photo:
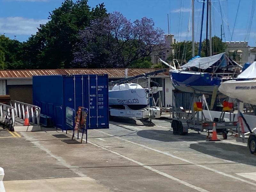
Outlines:
{"type": "Polygon", "coordinates": [[[107,15],[104,4],[90,10],[87,0],[65,0],[50,13],[49,21],[40,25],[24,45],[24,60],[30,68],[71,68],[73,48],[79,30],[95,18],[107,15]]]}

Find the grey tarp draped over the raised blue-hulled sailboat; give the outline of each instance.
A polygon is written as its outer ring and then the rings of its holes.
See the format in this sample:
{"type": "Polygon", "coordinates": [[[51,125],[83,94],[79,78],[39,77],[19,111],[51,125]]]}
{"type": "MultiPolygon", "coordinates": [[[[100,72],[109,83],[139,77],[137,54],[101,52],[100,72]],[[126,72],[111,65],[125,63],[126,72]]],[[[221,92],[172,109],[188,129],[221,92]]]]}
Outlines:
{"type": "Polygon", "coordinates": [[[202,57],[202,58],[195,58],[189,61],[187,64],[182,65],[181,68],[186,70],[187,68],[196,67],[200,69],[207,69],[218,62],[218,66],[220,67],[226,66],[226,59],[225,53],[220,53],[217,55],[213,55],[210,57],[202,57]]]}

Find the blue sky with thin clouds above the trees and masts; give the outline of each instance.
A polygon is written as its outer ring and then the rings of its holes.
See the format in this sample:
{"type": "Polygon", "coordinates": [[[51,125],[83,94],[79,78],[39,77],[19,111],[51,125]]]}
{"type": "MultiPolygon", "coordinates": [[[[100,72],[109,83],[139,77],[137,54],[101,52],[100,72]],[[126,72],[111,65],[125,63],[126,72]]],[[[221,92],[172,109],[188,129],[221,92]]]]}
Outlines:
{"type": "MultiPolygon", "coordinates": [[[[255,0],[241,0],[234,28],[239,0],[212,0],[212,36],[220,36],[221,5],[225,32],[223,41],[231,41],[234,29],[232,41],[245,40],[250,46],[256,46],[256,3],[253,1],[255,0]],[[254,15],[250,27],[252,8],[254,15]]],[[[49,12],[60,7],[61,2],[63,0],[0,0],[0,33],[12,39],[16,35],[17,40],[26,41],[31,34],[36,33],[39,24],[47,22],[49,12]]],[[[166,34],[168,33],[167,14],[169,14],[171,34],[174,34],[174,38],[178,41],[192,39],[191,0],[89,0],[88,4],[94,7],[102,2],[108,12],[119,11],[132,21],[142,17],[152,18],[155,26],[164,29],[166,34]]],[[[201,15],[202,3],[195,0],[196,41],[199,41],[200,37],[201,15]]],[[[205,24],[204,20],[204,38],[205,24]]]]}

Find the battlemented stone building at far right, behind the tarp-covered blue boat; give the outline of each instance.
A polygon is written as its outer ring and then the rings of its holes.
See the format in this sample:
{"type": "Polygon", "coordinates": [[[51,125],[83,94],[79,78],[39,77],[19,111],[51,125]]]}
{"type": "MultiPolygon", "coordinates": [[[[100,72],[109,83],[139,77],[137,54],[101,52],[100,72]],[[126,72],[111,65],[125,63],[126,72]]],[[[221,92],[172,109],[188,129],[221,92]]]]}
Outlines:
{"type": "Polygon", "coordinates": [[[239,64],[248,62],[250,55],[250,46],[248,42],[244,41],[226,41],[227,49],[226,52],[229,57],[239,64]]]}

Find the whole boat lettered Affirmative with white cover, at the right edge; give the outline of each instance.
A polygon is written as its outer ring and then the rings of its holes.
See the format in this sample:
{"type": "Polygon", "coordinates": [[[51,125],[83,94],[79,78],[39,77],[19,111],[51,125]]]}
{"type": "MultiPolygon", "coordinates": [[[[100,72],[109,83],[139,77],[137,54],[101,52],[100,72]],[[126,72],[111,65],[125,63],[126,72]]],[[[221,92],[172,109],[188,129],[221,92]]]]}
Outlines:
{"type": "Polygon", "coordinates": [[[256,61],[238,75],[235,80],[221,83],[219,91],[228,97],[256,105],[256,61]]]}

